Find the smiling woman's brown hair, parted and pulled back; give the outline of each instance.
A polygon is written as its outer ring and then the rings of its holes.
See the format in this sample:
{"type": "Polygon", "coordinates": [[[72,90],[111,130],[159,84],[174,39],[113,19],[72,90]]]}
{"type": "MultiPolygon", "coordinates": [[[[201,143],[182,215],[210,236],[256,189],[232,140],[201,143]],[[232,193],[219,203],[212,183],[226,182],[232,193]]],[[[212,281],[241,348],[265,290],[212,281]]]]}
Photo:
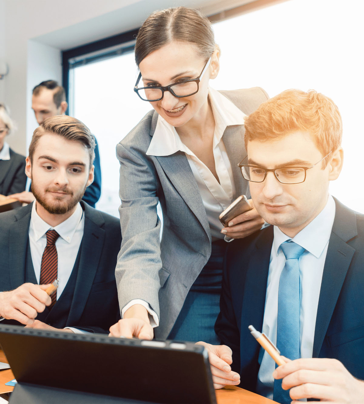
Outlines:
{"type": "Polygon", "coordinates": [[[172,7],[154,11],[140,27],[135,43],[135,63],[173,40],[195,44],[205,61],[214,52],[210,20],[194,8],[172,7]]]}

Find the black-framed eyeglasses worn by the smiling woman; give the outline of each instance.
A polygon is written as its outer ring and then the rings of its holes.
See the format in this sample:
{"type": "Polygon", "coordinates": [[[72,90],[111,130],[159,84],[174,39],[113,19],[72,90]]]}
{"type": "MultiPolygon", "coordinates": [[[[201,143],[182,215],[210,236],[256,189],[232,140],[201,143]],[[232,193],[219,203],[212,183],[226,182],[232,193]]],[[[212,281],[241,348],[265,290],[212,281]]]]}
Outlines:
{"type": "Polygon", "coordinates": [[[174,97],[189,97],[194,95],[199,90],[199,82],[201,81],[203,75],[205,74],[207,67],[209,67],[211,61],[210,59],[203,66],[201,74],[191,80],[183,80],[181,82],[169,84],[169,86],[148,86],[148,87],[138,87],[138,83],[142,78],[142,74],[139,73],[138,80],[135,83],[134,91],[139,95],[143,101],[159,101],[163,98],[164,92],[169,91],[174,97]]]}

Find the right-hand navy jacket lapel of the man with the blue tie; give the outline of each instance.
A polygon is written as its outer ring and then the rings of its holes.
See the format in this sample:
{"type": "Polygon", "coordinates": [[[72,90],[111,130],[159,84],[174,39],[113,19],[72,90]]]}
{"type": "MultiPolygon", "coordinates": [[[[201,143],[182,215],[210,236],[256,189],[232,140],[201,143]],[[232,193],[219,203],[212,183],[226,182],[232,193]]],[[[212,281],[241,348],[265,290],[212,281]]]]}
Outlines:
{"type": "Polygon", "coordinates": [[[317,307],[313,358],[320,353],[336,301],[355,252],[347,241],[358,235],[355,213],[345,208],[337,200],[335,202],[335,219],[328,244],[317,307]]]}

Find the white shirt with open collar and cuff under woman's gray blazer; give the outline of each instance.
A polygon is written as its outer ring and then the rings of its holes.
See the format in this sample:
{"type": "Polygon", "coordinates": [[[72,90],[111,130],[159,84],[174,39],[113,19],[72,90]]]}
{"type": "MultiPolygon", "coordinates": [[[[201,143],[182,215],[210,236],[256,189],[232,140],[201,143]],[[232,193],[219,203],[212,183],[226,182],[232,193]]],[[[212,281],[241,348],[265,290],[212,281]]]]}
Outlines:
{"type": "MultiPolygon", "coordinates": [[[[215,169],[220,180],[217,181],[209,168],[182,143],[176,128],[170,125],[161,116],[158,116],[157,125],[150,141],[146,154],[148,156],[170,156],[177,151],[186,154],[188,164],[190,164],[193,176],[201,193],[203,206],[206,210],[207,219],[210,225],[212,241],[225,237],[226,241],[232,240],[224,236],[220,231],[224,227],[220,220],[220,213],[226,209],[233,201],[235,195],[235,183],[229,156],[226,153],[222,135],[226,126],[243,125],[245,114],[229,99],[213,88],[209,88],[209,99],[214,114],[215,130],[213,138],[213,153],[215,159],[215,169]]],[[[152,326],[159,324],[157,314],[150,305],[141,299],[130,301],[121,310],[121,316],[134,304],[141,304],[148,310],[152,326]]]]}

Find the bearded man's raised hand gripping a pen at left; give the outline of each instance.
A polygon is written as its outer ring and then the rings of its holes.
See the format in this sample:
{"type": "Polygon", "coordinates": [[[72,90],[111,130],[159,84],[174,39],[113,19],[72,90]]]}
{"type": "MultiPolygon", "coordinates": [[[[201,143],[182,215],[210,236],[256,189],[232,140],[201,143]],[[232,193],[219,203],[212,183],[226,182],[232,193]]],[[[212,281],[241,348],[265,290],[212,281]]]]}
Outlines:
{"type": "Polygon", "coordinates": [[[46,290],[50,285],[25,283],[14,290],[0,293],[0,315],[3,318],[33,324],[38,313],[42,313],[52,300],[46,290]]]}

